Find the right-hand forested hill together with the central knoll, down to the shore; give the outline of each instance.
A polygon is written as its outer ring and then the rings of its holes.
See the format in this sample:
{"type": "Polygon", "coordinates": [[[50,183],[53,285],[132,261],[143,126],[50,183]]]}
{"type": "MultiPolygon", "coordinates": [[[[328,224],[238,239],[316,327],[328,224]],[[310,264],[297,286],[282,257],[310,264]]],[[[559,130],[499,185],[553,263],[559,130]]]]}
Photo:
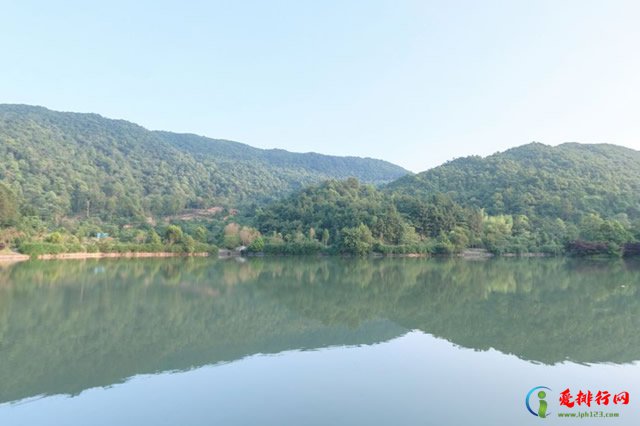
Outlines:
{"type": "Polygon", "coordinates": [[[638,254],[640,152],[532,143],[378,189],[331,181],[267,206],[257,226],[356,253],[638,254]]]}

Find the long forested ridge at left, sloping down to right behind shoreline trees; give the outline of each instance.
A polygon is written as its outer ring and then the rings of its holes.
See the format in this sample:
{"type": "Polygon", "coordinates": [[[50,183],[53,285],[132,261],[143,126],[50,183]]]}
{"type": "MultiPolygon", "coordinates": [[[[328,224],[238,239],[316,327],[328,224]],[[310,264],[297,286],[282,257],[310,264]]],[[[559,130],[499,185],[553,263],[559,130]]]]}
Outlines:
{"type": "Polygon", "coordinates": [[[261,150],[27,105],[0,105],[0,158],[0,190],[43,218],[170,215],[273,199],[328,178],[380,184],[408,173],[380,160],[261,150]]]}

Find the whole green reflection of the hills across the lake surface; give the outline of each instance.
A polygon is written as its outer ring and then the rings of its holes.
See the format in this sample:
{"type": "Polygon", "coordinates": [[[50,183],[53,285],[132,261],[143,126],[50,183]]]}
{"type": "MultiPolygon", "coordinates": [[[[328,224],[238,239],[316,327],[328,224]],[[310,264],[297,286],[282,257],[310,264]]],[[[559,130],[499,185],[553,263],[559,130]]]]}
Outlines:
{"type": "Polygon", "coordinates": [[[557,259],[23,263],[0,270],[0,402],[408,329],[544,363],[629,362],[639,278],[557,259]]]}

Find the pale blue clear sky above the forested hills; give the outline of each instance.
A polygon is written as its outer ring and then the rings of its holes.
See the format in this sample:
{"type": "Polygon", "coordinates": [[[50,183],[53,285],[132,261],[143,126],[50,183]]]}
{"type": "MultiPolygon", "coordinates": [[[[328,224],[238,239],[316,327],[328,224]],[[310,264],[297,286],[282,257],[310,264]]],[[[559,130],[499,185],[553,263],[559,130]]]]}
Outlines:
{"type": "Polygon", "coordinates": [[[414,172],[640,150],[640,2],[0,0],[0,103],[414,172]]]}

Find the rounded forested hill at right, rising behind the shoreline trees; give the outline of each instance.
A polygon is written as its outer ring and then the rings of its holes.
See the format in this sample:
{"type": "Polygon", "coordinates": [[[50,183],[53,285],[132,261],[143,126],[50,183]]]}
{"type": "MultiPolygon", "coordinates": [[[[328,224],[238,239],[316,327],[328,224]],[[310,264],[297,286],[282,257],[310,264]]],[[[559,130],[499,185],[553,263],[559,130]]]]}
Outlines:
{"type": "Polygon", "coordinates": [[[466,157],[405,176],[387,191],[427,199],[448,194],[488,214],[577,221],[588,213],[640,217],[640,152],[615,145],[531,143],[466,157]]]}

